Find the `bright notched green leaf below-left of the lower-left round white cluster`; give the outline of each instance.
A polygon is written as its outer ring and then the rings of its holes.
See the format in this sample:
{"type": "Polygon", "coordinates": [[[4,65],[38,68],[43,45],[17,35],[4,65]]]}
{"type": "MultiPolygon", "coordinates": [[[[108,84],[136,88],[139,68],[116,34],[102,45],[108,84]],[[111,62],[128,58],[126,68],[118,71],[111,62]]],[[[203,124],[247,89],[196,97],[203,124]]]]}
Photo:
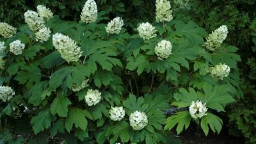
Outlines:
{"type": "Polygon", "coordinates": [[[66,130],[70,133],[74,124],[75,128],[81,128],[81,130],[85,131],[87,128],[86,116],[87,113],[82,109],[77,107],[72,107],[69,109],[68,117],[65,120],[66,130]]]}

